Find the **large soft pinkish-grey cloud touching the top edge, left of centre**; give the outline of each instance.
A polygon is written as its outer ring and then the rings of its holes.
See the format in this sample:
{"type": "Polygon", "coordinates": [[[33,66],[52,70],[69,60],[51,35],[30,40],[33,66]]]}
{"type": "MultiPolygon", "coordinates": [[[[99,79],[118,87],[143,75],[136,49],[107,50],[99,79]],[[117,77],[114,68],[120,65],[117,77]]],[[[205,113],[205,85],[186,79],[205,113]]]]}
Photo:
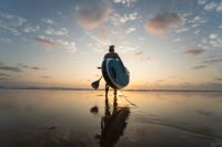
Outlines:
{"type": "Polygon", "coordinates": [[[92,30],[104,24],[111,12],[111,3],[107,0],[91,0],[78,9],[77,20],[82,28],[92,30]]]}

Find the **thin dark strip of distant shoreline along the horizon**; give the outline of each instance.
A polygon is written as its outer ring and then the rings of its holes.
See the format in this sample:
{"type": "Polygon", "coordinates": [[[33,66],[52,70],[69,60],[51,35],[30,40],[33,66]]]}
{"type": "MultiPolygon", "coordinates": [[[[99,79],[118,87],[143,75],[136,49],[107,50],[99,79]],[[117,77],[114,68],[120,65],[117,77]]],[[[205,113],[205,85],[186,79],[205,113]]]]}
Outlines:
{"type": "MultiPolygon", "coordinates": [[[[0,90],[46,90],[46,91],[94,91],[93,88],[72,88],[72,87],[4,87],[0,86],[0,90]]],[[[99,88],[97,91],[104,91],[99,88]]],[[[112,90],[111,90],[112,91],[112,90]]],[[[125,92],[222,92],[214,90],[122,90],[125,92]]]]}

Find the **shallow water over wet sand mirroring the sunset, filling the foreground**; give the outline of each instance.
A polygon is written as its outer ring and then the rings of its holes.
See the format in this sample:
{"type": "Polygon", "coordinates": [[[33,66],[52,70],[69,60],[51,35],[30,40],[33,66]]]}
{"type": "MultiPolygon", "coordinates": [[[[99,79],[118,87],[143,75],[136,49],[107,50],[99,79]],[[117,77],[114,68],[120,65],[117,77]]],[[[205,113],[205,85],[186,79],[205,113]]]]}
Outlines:
{"type": "Polygon", "coordinates": [[[123,93],[1,90],[0,147],[222,147],[222,93],[123,93]]]}

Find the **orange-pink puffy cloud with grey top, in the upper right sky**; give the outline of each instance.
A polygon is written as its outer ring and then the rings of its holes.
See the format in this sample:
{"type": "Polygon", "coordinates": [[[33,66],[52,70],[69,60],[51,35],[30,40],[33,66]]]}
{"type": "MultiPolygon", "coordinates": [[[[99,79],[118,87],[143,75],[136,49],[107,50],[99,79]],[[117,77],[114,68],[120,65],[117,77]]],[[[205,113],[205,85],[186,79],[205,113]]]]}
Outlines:
{"type": "Polygon", "coordinates": [[[157,14],[144,25],[145,30],[150,33],[162,35],[171,28],[179,27],[182,19],[179,14],[172,12],[162,12],[157,14]]]}

